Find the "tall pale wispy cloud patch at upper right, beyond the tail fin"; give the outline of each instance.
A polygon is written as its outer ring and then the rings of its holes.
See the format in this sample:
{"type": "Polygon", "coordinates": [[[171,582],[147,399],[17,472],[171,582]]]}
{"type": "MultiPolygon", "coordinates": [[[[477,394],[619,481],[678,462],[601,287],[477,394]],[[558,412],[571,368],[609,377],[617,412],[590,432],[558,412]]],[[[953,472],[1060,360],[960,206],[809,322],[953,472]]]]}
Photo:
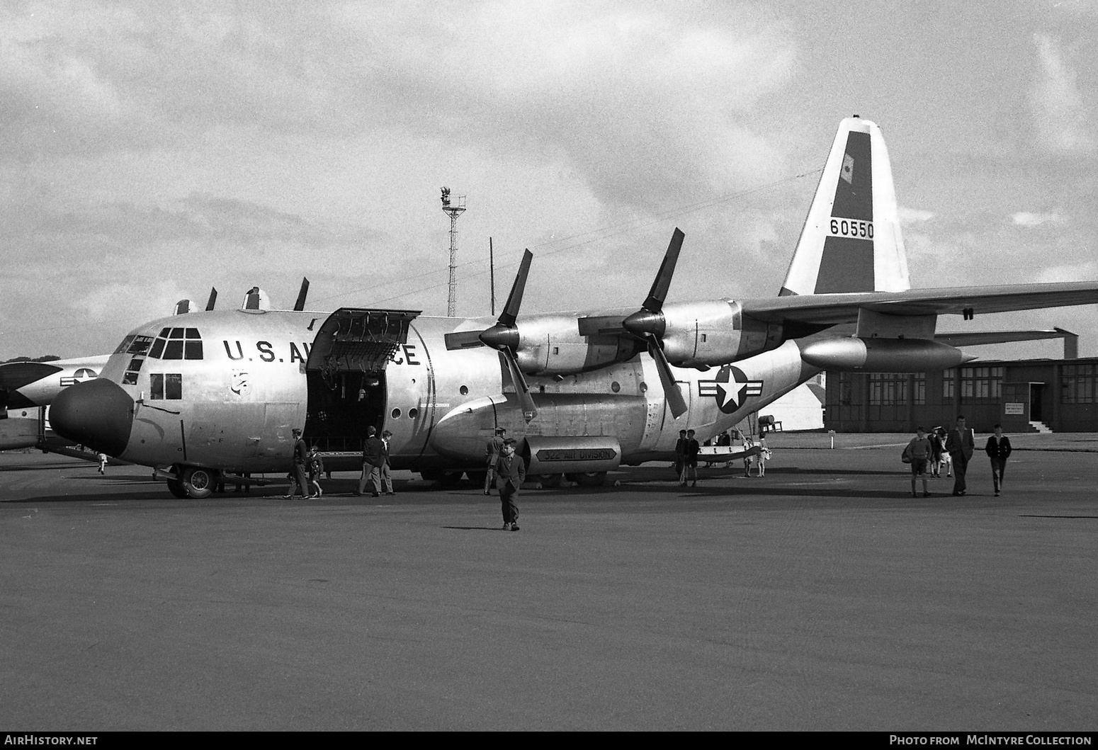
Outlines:
{"type": "Polygon", "coordinates": [[[1064,59],[1056,40],[1034,34],[1041,68],[1030,97],[1042,147],[1058,154],[1094,153],[1096,139],[1079,93],[1078,76],[1064,59]]]}

